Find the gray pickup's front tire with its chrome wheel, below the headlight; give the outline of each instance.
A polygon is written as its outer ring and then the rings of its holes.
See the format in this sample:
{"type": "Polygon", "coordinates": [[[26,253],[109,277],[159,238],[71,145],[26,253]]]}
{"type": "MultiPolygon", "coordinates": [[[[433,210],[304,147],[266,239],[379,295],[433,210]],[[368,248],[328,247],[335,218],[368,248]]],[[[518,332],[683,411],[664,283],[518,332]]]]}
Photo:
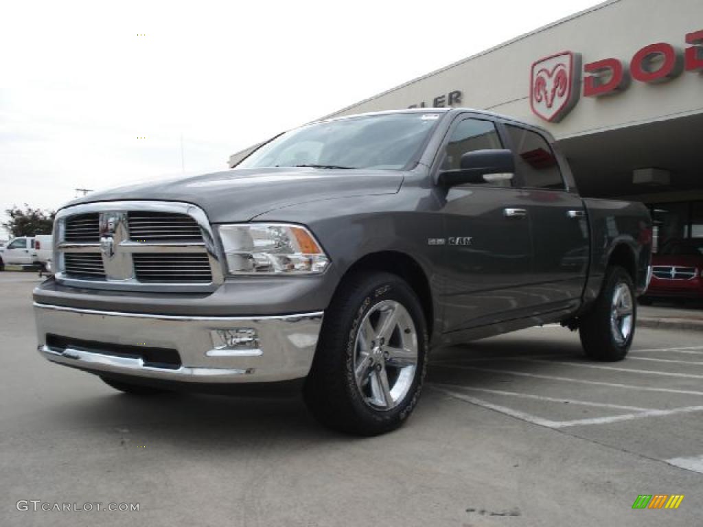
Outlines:
{"type": "Polygon", "coordinates": [[[404,280],[352,275],[325,311],[304,386],[308,408],[325,426],[350,434],[398,428],[418,403],[428,340],[420,301],[404,280]]]}

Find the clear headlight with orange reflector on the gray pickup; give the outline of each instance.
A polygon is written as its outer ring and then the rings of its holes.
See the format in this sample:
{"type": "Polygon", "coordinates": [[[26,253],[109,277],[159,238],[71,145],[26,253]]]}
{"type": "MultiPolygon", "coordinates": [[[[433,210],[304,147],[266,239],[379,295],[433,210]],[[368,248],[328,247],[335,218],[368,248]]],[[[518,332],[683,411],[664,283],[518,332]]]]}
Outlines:
{"type": "Polygon", "coordinates": [[[330,259],[307,228],[285,223],[219,226],[231,275],[318,274],[330,259]]]}

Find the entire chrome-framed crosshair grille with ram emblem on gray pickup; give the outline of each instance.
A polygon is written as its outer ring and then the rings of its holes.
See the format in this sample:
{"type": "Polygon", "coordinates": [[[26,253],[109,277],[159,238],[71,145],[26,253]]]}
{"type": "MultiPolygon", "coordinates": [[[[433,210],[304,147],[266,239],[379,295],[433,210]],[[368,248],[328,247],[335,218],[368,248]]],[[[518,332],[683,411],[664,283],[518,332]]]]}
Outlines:
{"type": "Polygon", "coordinates": [[[212,228],[194,205],[88,203],[56,222],[56,280],[65,285],[201,292],[224,282],[212,228]]]}

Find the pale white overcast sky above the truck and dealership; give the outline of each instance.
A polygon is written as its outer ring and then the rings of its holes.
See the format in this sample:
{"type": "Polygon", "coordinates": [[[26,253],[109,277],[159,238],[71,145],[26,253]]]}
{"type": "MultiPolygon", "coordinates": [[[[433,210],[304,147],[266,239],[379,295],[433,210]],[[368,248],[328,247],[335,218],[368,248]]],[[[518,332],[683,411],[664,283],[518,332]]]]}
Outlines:
{"type": "Polygon", "coordinates": [[[0,219],[181,174],[181,136],[186,174],[226,169],[278,131],[598,3],[4,2],[0,219]]]}

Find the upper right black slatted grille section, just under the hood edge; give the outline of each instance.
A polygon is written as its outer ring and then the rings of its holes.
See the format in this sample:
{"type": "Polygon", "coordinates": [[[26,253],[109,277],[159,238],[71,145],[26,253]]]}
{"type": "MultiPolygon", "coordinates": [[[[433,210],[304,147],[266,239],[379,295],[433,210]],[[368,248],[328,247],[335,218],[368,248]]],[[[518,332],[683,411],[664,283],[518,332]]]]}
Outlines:
{"type": "Polygon", "coordinates": [[[202,234],[198,223],[186,214],[169,212],[129,212],[129,239],[144,242],[200,241],[202,234]]]}

